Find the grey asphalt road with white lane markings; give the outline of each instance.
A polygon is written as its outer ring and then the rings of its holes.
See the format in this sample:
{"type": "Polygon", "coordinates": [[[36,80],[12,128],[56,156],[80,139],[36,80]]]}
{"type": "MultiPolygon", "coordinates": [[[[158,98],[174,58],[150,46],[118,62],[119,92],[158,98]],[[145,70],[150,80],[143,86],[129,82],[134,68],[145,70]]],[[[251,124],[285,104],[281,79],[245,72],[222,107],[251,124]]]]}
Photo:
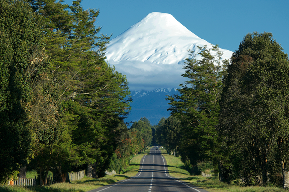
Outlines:
{"type": "Polygon", "coordinates": [[[165,158],[160,150],[152,147],[149,155],[144,155],[137,175],[129,179],[107,185],[90,192],[207,192],[189,186],[168,174],[165,158]]]}

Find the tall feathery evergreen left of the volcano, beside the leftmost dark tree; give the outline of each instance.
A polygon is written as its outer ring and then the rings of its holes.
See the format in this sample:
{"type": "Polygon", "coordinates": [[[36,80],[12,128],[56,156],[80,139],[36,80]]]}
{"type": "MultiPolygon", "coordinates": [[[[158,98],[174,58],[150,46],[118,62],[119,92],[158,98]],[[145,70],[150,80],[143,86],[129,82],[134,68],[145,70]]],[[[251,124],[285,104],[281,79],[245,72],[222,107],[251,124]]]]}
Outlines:
{"type": "Polygon", "coordinates": [[[46,50],[64,110],[60,142],[51,157],[58,181],[84,164],[93,164],[93,175],[100,176],[130,109],[126,77],[104,61],[110,37],[98,36],[101,28],[94,23],[99,11],[83,10],[81,0],[71,6],[56,0],[29,2],[45,18],[46,50]]]}

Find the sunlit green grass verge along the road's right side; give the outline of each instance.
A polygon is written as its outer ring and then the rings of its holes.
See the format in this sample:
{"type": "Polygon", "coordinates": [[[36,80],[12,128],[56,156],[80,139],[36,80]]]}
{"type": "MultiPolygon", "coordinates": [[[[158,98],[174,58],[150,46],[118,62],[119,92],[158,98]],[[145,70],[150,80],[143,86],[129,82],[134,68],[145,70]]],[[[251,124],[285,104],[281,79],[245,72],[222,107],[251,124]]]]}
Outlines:
{"type": "Polygon", "coordinates": [[[179,157],[168,155],[163,149],[161,149],[161,152],[166,159],[168,171],[172,177],[203,188],[209,192],[288,192],[288,190],[283,190],[278,187],[242,187],[237,184],[226,184],[219,182],[218,179],[213,177],[206,178],[199,175],[191,176],[188,171],[182,169],[183,163],[179,157]]]}

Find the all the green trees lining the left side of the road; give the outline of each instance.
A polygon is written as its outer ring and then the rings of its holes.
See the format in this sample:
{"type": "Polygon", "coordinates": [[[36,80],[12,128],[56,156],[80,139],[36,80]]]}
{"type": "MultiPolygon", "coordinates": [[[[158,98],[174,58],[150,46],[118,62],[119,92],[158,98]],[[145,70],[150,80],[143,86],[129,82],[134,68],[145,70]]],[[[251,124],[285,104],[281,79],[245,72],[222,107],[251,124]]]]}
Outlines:
{"type": "Polygon", "coordinates": [[[149,145],[146,130],[124,124],[130,91],[105,62],[99,11],[80,3],[0,1],[0,183],[27,167],[40,185],[49,171],[55,182],[87,167],[100,177],[126,139],[130,154],[149,145]]]}

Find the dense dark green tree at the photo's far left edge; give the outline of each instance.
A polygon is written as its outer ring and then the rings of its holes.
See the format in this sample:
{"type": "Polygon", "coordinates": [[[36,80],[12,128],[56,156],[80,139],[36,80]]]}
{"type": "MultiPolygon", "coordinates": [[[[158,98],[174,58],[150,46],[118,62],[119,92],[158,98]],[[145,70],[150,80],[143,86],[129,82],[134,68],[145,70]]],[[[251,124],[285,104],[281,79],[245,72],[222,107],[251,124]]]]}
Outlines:
{"type": "MultiPolygon", "coordinates": [[[[45,72],[42,19],[28,4],[0,1],[0,182],[27,163],[33,90],[45,72]]],[[[49,107],[48,107],[49,108],[49,107]]]]}

